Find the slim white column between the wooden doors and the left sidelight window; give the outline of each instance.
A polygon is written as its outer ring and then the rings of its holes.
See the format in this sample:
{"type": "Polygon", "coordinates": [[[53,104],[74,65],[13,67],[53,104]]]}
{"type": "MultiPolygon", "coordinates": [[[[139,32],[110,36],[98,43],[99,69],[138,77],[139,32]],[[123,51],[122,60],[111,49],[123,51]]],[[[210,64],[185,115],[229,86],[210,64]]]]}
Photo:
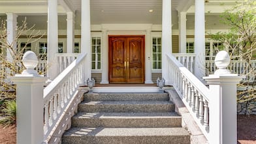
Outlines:
{"type": "Polygon", "coordinates": [[[106,31],[106,29],[102,31],[101,55],[101,84],[108,84],[108,31],[106,31]]]}

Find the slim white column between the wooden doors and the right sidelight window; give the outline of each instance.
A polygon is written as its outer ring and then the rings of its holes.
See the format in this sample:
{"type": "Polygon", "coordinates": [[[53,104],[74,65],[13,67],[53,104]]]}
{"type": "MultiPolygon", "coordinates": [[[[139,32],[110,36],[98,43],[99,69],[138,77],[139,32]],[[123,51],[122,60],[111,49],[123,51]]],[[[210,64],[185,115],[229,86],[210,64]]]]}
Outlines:
{"type": "Polygon", "coordinates": [[[152,50],[152,46],[151,46],[151,29],[147,29],[146,30],[146,57],[145,57],[145,61],[146,61],[146,68],[145,68],[145,75],[146,75],[146,79],[145,79],[145,83],[153,83],[152,81],[152,57],[151,57],[151,50],[152,50]]]}

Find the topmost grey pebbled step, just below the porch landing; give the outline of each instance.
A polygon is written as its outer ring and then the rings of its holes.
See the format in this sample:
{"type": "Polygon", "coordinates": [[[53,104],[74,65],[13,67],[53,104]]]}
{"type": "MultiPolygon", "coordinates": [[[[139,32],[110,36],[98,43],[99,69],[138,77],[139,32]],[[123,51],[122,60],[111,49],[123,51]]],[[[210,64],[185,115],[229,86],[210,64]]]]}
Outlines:
{"type": "Polygon", "coordinates": [[[167,93],[86,93],[85,101],[169,100],[167,93]]]}

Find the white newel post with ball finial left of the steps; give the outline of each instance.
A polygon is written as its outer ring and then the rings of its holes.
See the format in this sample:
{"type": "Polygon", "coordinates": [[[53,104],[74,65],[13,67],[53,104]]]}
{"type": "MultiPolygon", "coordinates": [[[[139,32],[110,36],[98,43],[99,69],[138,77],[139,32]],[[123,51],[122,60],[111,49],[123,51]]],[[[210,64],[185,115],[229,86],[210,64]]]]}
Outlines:
{"type": "Polygon", "coordinates": [[[10,79],[16,84],[17,143],[42,143],[44,138],[43,85],[46,78],[34,70],[37,55],[27,51],[22,59],[26,70],[10,79]]]}

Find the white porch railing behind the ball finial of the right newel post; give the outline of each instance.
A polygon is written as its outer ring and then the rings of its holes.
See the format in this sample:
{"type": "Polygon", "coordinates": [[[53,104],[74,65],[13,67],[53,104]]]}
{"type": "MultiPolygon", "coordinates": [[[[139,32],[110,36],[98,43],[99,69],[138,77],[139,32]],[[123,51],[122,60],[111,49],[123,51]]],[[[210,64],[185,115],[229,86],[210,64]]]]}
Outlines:
{"type": "MultiPolygon", "coordinates": [[[[251,67],[249,68],[249,65],[246,61],[234,61],[232,60],[229,65],[229,70],[234,74],[241,74],[246,76],[244,80],[246,81],[256,81],[255,74],[250,74],[251,72],[255,72],[256,70],[256,60],[251,61],[251,67]],[[253,69],[254,68],[254,69],[253,69]]],[[[214,72],[217,70],[216,65],[214,64],[214,61],[206,61],[206,74],[214,74],[214,72]]]]}

